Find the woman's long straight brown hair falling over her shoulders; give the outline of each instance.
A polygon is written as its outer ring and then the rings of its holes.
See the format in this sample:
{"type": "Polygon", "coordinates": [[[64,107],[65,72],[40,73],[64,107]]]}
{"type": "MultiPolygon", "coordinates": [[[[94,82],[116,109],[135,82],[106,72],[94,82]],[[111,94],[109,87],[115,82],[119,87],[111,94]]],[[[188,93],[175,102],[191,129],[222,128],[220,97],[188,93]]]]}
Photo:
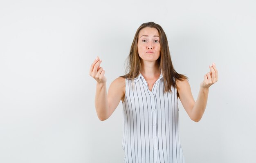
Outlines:
{"type": "MultiPolygon", "coordinates": [[[[168,92],[168,91],[172,92],[171,86],[177,88],[175,79],[184,80],[184,79],[188,79],[188,77],[182,74],[178,74],[173,68],[173,63],[171,61],[171,55],[170,55],[166,34],[162,29],[162,27],[154,22],[143,23],[137,29],[134,39],[132,41],[130,54],[127,58],[128,64],[126,68],[126,75],[120,76],[120,77],[134,80],[134,78],[139,76],[139,73],[141,71],[141,62],[140,62],[141,58],[139,57],[137,44],[138,44],[139,31],[145,27],[155,28],[159,33],[160,56],[157,59],[157,63],[159,65],[159,69],[162,70],[162,74],[164,78],[164,92],[168,92]]],[[[177,92],[177,95],[178,95],[178,92],[177,92]]]]}

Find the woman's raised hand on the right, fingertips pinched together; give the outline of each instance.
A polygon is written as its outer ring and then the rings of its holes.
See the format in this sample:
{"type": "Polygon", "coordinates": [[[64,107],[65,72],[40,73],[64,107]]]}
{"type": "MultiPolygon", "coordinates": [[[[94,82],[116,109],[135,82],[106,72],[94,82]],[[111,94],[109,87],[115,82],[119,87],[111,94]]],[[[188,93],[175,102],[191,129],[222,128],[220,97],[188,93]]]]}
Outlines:
{"type": "Polygon", "coordinates": [[[211,85],[218,81],[218,70],[215,63],[209,66],[210,72],[204,75],[204,81],[200,84],[200,87],[208,89],[211,85]]]}

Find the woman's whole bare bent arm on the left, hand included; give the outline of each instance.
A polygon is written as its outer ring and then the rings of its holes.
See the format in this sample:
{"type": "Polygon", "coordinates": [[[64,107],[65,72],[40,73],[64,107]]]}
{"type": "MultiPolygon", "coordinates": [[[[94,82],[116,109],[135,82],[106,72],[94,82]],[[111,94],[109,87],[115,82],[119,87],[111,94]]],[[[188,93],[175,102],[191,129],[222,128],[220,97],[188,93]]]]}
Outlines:
{"type": "Polygon", "coordinates": [[[106,77],[104,76],[105,71],[100,67],[101,62],[102,61],[99,60],[99,58],[94,60],[89,74],[97,81],[95,109],[98,118],[101,121],[104,121],[112,115],[120,100],[123,99],[125,92],[125,79],[121,77],[115,79],[111,83],[107,95],[106,77]]]}

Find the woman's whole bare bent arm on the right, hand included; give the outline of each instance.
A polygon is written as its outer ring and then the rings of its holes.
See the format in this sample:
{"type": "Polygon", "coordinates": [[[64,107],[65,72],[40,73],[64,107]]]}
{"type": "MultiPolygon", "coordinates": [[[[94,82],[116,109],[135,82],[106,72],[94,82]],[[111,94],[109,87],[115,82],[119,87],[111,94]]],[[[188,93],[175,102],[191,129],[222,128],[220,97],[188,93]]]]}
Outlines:
{"type": "Polygon", "coordinates": [[[200,84],[200,91],[195,102],[188,80],[177,80],[180,101],[189,117],[198,122],[202,118],[209,94],[209,87],[218,81],[218,70],[215,64],[210,67],[211,71],[204,75],[204,81],[200,84]]]}

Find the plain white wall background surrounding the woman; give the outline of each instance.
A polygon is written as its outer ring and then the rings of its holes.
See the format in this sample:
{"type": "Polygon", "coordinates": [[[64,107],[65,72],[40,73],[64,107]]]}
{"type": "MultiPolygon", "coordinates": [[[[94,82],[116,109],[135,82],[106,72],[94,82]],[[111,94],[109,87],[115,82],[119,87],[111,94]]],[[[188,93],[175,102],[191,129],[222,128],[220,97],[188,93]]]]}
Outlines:
{"type": "Polygon", "coordinates": [[[200,122],[179,100],[186,163],[255,163],[255,0],[1,0],[0,162],[121,163],[121,103],[94,107],[96,56],[107,87],[124,75],[137,28],[153,21],[196,100],[213,62],[219,81],[200,122]]]}

